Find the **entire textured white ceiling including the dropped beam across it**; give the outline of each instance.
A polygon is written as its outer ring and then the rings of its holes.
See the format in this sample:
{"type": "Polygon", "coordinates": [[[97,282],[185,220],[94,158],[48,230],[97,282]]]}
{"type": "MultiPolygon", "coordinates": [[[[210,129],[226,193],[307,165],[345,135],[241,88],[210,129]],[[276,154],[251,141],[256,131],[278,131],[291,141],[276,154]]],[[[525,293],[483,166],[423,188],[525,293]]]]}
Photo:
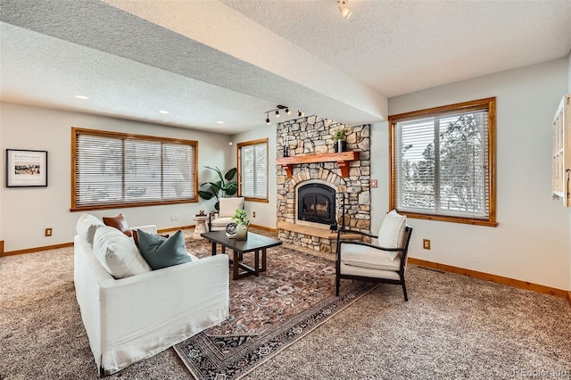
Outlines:
{"type": "Polygon", "coordinates": [[[568,0],[349,6],[344,21],[335,0],[3,0],[0,95],[227,134],[269,128],[277,104],[362,124],[386,96],[571,49],[568,0]]]}

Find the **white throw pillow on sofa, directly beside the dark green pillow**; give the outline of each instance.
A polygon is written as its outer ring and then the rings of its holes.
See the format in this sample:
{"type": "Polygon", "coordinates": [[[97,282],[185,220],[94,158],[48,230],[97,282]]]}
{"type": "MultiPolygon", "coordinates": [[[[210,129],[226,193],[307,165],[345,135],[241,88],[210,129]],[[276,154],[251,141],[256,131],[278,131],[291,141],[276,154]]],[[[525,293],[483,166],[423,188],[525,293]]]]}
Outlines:
{"type": "Polygon", "coordinates": [[[103,268],[116,279],[151,271],[133,239],[117,228],[98,227],[95,230],[93,251],[103,268]]]}

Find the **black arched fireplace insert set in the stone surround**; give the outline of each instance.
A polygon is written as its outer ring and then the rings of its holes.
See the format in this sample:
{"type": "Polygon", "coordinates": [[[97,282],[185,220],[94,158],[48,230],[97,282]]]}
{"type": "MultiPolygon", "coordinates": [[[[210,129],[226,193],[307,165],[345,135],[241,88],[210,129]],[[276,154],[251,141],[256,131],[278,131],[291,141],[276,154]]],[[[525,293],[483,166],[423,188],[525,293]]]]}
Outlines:
{"type": "Polygon", "coordinates": [[[323,184],[300,186],[297,190],[297,219],[335,225],[335,189],[323,184]]]}

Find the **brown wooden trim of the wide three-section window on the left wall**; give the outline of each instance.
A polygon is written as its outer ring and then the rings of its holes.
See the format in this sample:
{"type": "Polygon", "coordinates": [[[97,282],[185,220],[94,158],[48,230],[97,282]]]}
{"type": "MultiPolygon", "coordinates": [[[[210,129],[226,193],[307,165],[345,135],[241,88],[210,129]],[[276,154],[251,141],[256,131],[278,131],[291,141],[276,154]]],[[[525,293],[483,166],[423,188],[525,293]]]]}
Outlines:
{"type": "MultiPolygon", "coordinates": [[[[123,164],[124,164],[123,160],[123,164]]],[[[123,178],[123,181],[125,178],[123,178]]],[[[177,203],[194,203],[198,202],[198,141],[186,140],[180,138],[171,137],[159,137],[159,136],[147,136],[147,135],[137,135],[131,133],[121,133],[97,129],[88,128],[71,128],[71,207],[70,211],[93,211],[93,210],[105,210],[105,209],[117,209],[117,208],[128,208],[128,207],[144,207],[144,206],[156,206],[162,204],[177,204],[177,203]],[[151,202],[124,202],[124,203],[114,203],[114,204],[102,204],[102,205],[89,205],[89,206],[78,206],[76,202],[76,156],[77,156],[77,145],[76,141],[79,135],[90,135],[90,136],[103,136],[103,137],[115,137],[121,139],[137,139],[137,140],[147,140],[153,142],[164,142],[164,143],[174,143],[174,144],[185,144],[191,145],[194,148],[194,199],[188,200],[172,200],[172,201],[151,201],[151,202]]]]}

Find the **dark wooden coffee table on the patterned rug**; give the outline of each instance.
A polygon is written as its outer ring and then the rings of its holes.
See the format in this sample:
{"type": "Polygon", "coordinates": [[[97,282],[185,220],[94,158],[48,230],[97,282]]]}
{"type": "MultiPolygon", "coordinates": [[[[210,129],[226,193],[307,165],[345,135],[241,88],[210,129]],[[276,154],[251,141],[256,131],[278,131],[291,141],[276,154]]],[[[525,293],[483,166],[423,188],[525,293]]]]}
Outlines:
{"type": "Polygon", "coordinates": [[[282,244],[280,240],[254,234],[252,232],[248,232],[248,238],[246,240],[230,239],[226,235],[226,231],[205,232],[201,234],[201,236],[211,242],[212,256],[216,254],[216,244],[220,244],[222,246],[222,253],[226,252],[227,247],[232,250],[233,254],[230,262],[232,264],[232,279],[235,280],[250,275],[260,276],[260,272],[266,271],[266,250],[282,244]],[[244,253],[249,252],[254,252],[253,268],[244,264],[244,262],[241,262],[244,257],[244,253]],[[243,270],[240,271],[240,269],[243,270]]]}

